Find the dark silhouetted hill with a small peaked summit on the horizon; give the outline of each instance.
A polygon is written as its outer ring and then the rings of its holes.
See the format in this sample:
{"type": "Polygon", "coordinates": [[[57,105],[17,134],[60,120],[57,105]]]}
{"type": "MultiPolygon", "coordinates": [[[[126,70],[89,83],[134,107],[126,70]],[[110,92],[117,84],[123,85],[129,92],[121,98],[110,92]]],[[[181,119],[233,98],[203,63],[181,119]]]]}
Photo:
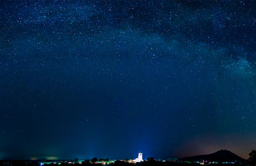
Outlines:
{"type": "Polygon", "coordinates": [[[179,160],[183,161],[218,161],[218,162],[228,162],[228,161],[245,161],[242,157],[239,157],[238,155],[232,153],[228,150],[219,150],[215,153],[211,154],[204,154],[204,155],[197,155],[197,156],[191,156],[191,157],[185,157],[180,158],[179,160]]]}

